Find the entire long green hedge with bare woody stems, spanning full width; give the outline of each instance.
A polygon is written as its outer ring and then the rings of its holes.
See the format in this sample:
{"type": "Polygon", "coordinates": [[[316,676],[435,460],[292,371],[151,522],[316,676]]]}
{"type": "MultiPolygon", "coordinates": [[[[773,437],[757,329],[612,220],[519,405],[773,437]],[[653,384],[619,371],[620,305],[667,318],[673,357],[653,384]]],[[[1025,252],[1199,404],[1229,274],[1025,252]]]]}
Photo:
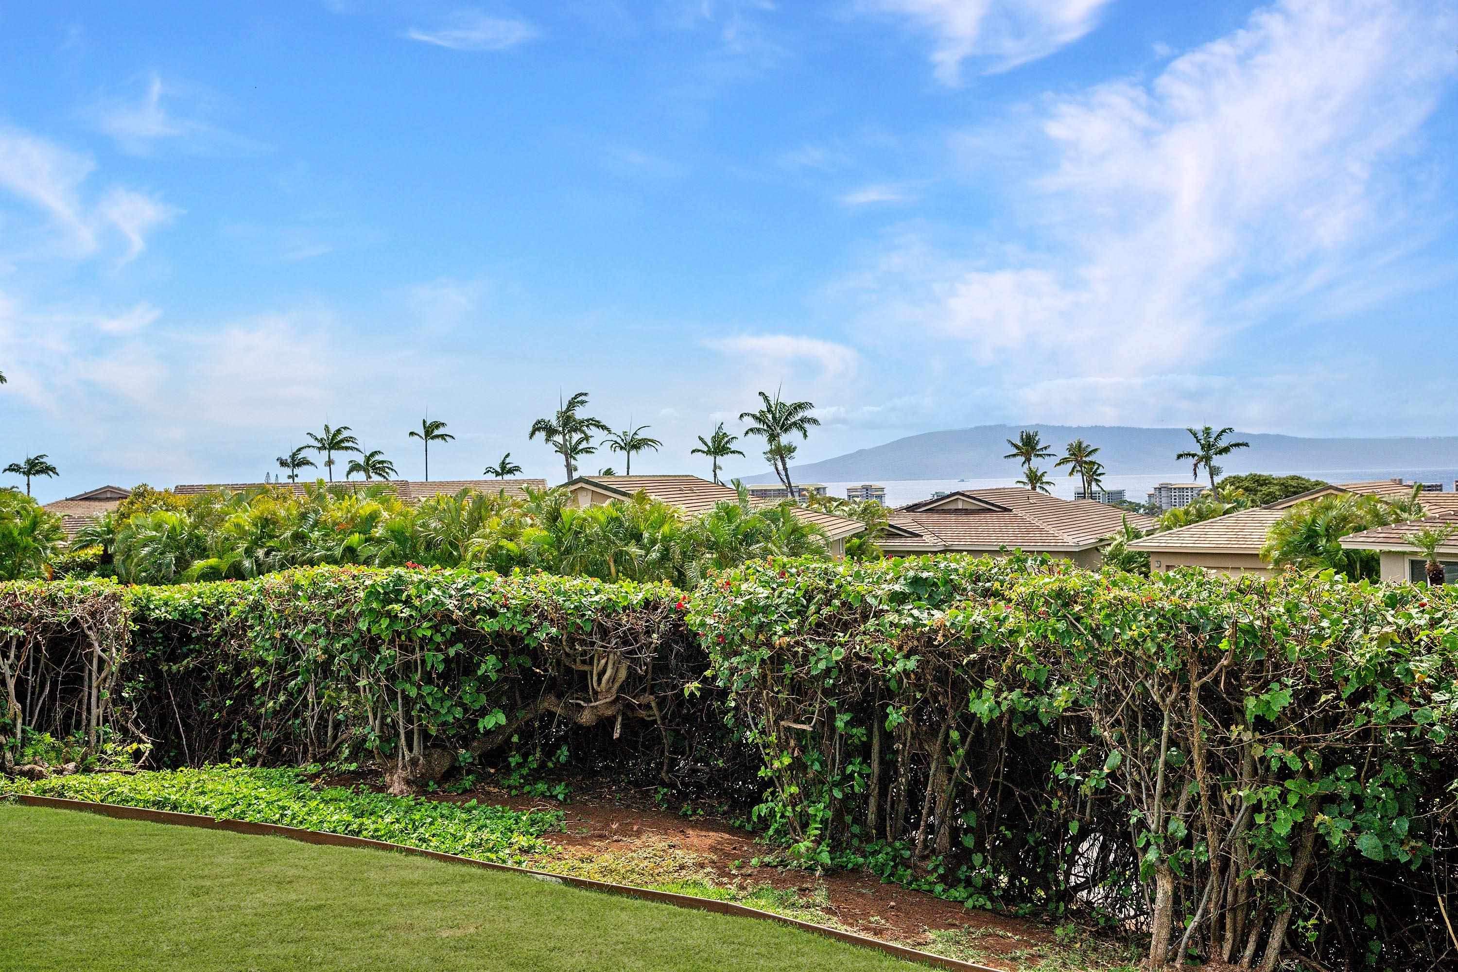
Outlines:
{"type": "Polygon", "coordinates": [[[0,659],[4,753],[109,732],[404,791],[550,750],[738,787],[809,864],[1142,928],[1155,965],[1454,947],[1442,590],[1021,557],[771,558],[693,592],[306,568],[4,584],[0,659]]]}

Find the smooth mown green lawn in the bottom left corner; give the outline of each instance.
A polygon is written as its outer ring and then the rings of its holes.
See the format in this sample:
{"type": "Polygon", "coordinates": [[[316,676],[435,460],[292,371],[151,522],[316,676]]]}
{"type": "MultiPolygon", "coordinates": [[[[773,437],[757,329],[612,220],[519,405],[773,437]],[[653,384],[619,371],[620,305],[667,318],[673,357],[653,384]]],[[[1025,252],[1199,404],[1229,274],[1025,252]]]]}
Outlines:
{"type": "Polygon", "coordinates": [[[0,969],[913,966],[767,921],[283,838],[0,803],[0,969]]]}

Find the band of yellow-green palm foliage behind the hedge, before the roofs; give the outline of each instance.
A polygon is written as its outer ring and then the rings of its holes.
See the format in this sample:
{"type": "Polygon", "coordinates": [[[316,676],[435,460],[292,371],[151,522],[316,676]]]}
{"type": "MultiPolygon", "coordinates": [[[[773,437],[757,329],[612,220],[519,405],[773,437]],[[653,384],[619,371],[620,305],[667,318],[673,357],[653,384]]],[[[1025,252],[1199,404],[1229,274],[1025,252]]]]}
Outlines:
{"type": "Polygon", "coordinates": [[[413,506],[385,484],[195,497],[139,487],[117,513],[87,525],[76,546],[101,546],[99,567],[137,584],[242,580],[318,564],[416,564],[687,586],[748,558],[824,554],[824,535],[792,509],[751,506],[741,495],[687,517],[642,494],[579,509],[560,490],[525,498],[462,491],[413,506]]]}

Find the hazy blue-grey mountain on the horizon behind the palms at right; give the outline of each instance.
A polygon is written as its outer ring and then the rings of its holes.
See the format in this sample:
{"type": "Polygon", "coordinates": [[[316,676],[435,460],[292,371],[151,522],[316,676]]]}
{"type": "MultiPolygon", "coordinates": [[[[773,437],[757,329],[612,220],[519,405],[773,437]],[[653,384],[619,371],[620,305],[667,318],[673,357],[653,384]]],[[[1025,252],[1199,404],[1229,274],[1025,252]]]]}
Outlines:
{"type": "MultiPolygon", "coordinates": [[[[1024,428],[1042,434],[1054,455],[1073,439],[1101,449],[1098,459],[1111,475],[1163,474],[1185,469],[1175,453],[1191,446],[1184,428],[1137,428],[1131,426],[975,426],[907,436],[872,449],[822,462],[793,466],[799,482],[846,482],[876,479],[986,479],[1018,475],[1007,439],[1024,428]]],[[[1238,431],[1232,437],[1251,443],[1223,462],[1226,474],[1284,472],[1298,469],[1427,469],[1458,466],[1458,436],[1420,439],[1301,439],[1238,431]]],[[[1042,465],[1051,468],[1053,459],[1042,465]]],[[[745,482],[773,482],[774,474],[746,477],[745,482]]]]}

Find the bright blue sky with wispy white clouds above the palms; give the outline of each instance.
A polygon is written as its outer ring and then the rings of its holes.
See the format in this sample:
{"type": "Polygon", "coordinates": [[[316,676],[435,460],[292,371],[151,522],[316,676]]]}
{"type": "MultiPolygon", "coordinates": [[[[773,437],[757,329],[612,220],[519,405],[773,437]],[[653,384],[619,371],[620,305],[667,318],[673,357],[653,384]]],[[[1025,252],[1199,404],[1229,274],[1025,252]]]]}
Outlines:
{"type": "Polygon", "coordinates": [[[781,383],[803,460],[1452,433],[1455,51],[1439,0],[0,0],[0,453],[258,479],[328,421],[418,478],[429,409],[434,478],[555,478],[588,391],[694,471],[781,383]]]}

